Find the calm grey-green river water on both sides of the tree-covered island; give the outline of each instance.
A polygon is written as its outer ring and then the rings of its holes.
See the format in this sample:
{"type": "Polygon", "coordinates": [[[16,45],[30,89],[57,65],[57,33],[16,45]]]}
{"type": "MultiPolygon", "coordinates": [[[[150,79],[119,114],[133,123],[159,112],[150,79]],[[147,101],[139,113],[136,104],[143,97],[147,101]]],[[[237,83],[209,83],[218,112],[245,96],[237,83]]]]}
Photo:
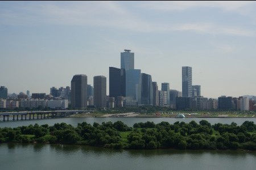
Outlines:
{"type": "MultiPolygon", "coordinates": [[[[49,120],[27,120],[0,122],[0,128],[23,125],[66,122],[73,126],[83,121],[123,121],[128,126],[136,122],[167,121],[190,122],[207,120],[241,125],[256,118],[54,118],[49,120]]],[[[0,169],[256,169],[254,151],[193,151],[193,150],[111,150],[108,148],[75,145],[0,144],[0,169]]]]}

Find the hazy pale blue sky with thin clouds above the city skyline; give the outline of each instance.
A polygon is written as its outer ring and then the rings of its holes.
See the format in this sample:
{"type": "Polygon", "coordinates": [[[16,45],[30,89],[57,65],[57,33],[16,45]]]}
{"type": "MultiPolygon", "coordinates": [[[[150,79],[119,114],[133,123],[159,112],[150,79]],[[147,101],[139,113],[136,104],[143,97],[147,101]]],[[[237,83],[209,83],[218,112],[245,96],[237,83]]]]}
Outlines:
{"type": "Polygon", "coordinates": [[[182,90],[192,67],[201,95],[256,96],[256,1],[0,1],[0,86],[9,93],[107,78],[120,53],[182,90]]]}

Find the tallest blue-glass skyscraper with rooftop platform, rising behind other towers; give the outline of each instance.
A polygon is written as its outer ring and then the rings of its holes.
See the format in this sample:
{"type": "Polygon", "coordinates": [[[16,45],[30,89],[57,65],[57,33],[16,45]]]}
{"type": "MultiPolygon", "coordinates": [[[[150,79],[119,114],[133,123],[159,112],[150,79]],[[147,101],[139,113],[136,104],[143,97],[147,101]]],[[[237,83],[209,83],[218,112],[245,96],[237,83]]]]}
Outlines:
{"type": "Polygon", "coordinates": [[[125,49],[125,52],[121,53],[121,69],[134,69],[134,53],[131,53],[131,50],[125,49]]]}

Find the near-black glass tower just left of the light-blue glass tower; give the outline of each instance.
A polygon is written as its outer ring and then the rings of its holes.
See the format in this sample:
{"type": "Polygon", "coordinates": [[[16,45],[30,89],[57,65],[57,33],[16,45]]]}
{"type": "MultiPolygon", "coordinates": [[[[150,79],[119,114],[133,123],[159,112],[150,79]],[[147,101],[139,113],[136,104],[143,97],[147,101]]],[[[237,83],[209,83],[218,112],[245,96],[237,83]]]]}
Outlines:
{"type": "Polygon", "coordinates": [[[121,93],[121,69],[109,67],[109,97],[122,96],[121,93]]]}

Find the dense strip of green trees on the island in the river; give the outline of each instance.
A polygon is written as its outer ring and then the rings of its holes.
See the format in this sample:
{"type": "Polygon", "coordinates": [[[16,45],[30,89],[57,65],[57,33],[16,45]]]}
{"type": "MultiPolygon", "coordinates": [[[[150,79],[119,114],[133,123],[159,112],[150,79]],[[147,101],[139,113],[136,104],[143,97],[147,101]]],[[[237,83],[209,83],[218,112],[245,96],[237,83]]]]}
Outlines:
{"type": "Polygon", "coordinates": [[[245,121],[241,126],[211,125],[206,120],[199,124],[185,122],[140,122],[129,127],[121,121],[93,125],[86,122],[77,127],[61,123],[53,126],[29,125],[0,128],[0,142],[62,143],[109,148],[157,149],[177,148],[189,150],[256,150],[256,125],[245,121]]]}

